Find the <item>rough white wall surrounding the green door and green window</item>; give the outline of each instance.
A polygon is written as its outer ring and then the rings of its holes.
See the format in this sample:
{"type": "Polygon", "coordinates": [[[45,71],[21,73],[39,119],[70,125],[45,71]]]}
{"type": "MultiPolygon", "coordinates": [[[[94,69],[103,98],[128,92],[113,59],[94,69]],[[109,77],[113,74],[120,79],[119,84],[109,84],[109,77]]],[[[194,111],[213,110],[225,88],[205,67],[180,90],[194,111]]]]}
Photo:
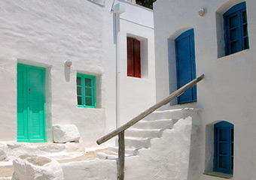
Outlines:
{"type": "Polygon", "coordinates": [[[102,6],[75,0],[1,1],[0,7],[0,140],[17,140],[17,63],[23,63],[46,68],[47,142],[52,124],[76,124],[84,144],[96,145],[105,127],[102,6]],[[77,72],[96,75],[96,109],[77,107],[77,72]]]}

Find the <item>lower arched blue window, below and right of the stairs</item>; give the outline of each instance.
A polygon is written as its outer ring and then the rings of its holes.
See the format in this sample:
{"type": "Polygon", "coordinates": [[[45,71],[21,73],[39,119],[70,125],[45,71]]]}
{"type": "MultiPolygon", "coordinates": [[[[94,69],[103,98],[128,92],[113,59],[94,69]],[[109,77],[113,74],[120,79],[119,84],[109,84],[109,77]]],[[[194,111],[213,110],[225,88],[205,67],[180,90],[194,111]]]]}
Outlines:
{"type": "Polygon", "coordinates": [[[214,171],[233,174],[233,124],[221,121],[214,128],[214,171]]]}

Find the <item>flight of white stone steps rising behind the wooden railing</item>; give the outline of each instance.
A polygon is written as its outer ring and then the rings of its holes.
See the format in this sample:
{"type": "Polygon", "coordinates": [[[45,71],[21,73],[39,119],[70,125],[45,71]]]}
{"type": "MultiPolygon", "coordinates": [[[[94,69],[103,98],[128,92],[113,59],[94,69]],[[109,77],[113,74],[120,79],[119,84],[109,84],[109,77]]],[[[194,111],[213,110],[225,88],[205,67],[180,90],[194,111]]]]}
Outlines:
{"type": "MultiPolygon", "coordinates": [[[[133,127],[125,130],[126,157],[135,156],[142,148],[151,148],[151,140],[161,138],[163,131],[172,129],[179,118],[184,118],[184,111],[194,110],[190,108],[179,110],[156,111],[143,118],[133,127]]],[[[116,145],[118,139],[116,139],[116,145]]],[[[118,147],[108,147],[108,151],[99,152],[100,159],[117,159],[118,147]]]]}

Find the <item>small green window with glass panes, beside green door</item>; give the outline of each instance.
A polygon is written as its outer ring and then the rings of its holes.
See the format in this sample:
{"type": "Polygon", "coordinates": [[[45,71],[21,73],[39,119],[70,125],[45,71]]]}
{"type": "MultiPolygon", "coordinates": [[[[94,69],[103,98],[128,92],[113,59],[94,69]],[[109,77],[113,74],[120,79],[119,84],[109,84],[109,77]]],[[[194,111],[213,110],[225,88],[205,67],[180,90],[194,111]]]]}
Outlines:
{"type": "Polygon", "coordinates": [[[96,108],[95,77],[77,74],[78,107],[96,108]]]}

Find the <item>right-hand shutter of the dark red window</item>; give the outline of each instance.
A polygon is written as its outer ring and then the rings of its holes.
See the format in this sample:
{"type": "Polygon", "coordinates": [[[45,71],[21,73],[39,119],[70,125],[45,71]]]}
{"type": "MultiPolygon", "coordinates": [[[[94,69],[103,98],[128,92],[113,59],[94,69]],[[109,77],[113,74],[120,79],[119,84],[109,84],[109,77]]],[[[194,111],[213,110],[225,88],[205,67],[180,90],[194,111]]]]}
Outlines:
{"type": "Polygon", "coordinates": [[[134,77],[141,77],[141,45],[140,41],[134,39],[134,77]]]}

